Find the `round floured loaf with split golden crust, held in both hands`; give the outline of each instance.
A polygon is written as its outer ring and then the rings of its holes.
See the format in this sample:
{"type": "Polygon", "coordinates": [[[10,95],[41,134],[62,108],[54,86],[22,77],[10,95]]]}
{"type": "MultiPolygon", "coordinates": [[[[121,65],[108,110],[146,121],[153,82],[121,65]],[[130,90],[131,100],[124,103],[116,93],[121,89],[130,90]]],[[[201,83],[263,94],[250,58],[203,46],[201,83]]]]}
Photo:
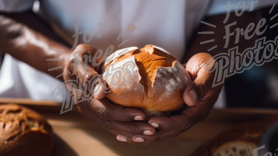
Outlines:
{"type": "Polygon", "coordinates": [[[185,107],[183,91],[191,81],[183,65],[166,50],[146,45],[117,50],[107,57],[103,79],[113,103],[147,112],[185,107]]]}

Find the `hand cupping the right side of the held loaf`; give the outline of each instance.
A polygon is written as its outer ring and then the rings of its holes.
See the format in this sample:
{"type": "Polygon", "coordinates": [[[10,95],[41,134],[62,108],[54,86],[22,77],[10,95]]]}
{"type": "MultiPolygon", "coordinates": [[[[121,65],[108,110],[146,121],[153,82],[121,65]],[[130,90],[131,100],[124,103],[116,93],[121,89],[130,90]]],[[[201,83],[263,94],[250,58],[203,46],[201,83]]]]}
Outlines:
{"type": "Polygon", "coordinates": [[[192,125],[204,120],[221,92],[222,85],[212,87],[215,61],[208,53],[197,53],[192,56],[186,70],[192,82],[186,87],[183,99],[189,106],[180,114],[170,117],[152,117],[148,123],[159,129],[154,135],[134,135],[133,141],[140,140],[145,143],[161,141],[176,137],[189,129],[192,125]]]}

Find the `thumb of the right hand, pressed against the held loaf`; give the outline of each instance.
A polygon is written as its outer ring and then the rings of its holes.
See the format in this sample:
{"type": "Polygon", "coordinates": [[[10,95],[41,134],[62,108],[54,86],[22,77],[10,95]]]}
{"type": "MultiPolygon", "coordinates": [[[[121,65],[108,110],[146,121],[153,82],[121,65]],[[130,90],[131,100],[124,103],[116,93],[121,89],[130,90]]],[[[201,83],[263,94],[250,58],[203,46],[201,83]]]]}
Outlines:
{"type": "Polygon", "coordinates": [[[213,57],[207,53],[198,53],[187,62],[186,70],[193,80],[183,93],[183,99],[187,105],[195,105],[211,89],[215,74],[211,71],[214,65],[213,57]]]}

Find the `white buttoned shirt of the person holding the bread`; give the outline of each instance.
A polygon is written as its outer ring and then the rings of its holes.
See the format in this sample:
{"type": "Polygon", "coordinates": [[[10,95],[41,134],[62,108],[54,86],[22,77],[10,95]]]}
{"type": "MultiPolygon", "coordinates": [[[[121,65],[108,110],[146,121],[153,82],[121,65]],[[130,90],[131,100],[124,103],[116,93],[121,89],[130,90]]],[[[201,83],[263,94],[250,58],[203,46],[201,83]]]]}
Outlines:
{"type": "MultiPolygon", "coordinates": [[[[31,9],[32,3],[33,0],[0,0],[0,11],[24,11],[31,9]]],[[[209,0],[43,0],[39,13],[70,44],[74,44],[74,25],[79,23],[79,31],[93,30],[89,44],[97,49],[154,44],[181,61],[188,39],[206,12],[225,11],[208,10],[208,4],[209,0]]],[[[82,38],[79,35],[78,44],[84,43],[82,38]]],[[[60,101],[53,98],[59,84],[59,80],[6,54],[0,71],[0,96],[60,101]]]]}

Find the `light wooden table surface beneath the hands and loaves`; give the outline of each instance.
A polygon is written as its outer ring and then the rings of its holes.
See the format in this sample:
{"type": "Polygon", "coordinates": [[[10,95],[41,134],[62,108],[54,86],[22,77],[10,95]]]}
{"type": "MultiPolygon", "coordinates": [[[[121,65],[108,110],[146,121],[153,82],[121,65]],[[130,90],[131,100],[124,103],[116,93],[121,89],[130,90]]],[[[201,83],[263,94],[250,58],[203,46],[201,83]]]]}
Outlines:
{"type": "Polygon", "coordinates": [[[76,111],[60,115],[60,107],[55,104],[51,105],[51,108],[45,105],[40,107],[34,103],[28,103],[27,106],[44,115],[53,126],[53,156],[187,156],[221,131],[242,122],[278,114],[278,110],[268,109],[213,109],[205,121],[194,125],[178,137],[150,145],[137,145],[117,141],[115,135],[103,131],[76,111]]]}

